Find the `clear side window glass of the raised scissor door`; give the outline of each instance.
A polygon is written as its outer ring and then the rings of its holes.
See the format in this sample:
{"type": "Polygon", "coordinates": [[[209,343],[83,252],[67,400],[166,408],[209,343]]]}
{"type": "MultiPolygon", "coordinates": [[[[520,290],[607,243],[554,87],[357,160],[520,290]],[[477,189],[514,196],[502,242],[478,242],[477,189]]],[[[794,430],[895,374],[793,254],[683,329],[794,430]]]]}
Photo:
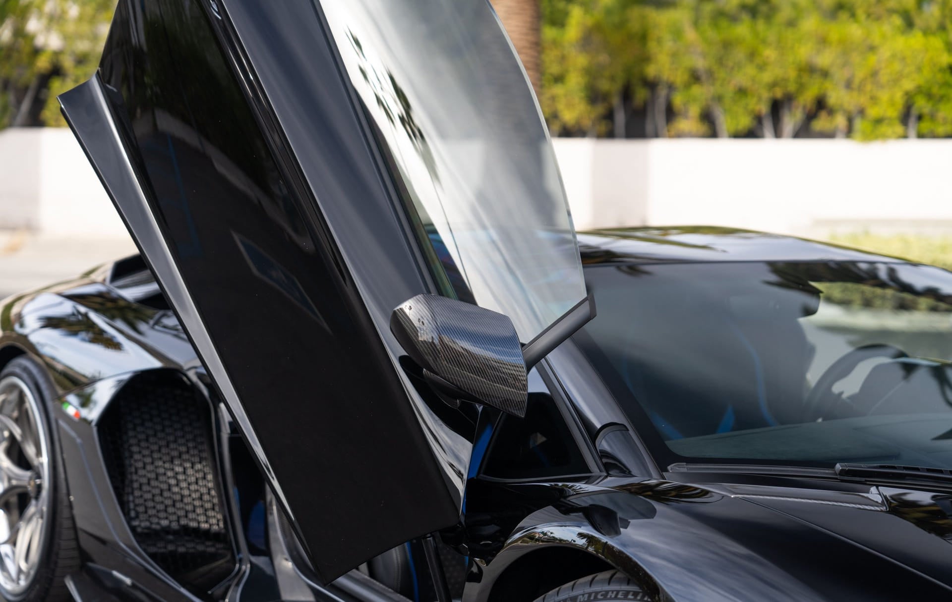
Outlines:
{"type": "Polygon", "coordinates": [[[486,0],[321,2],[441,293],[528,342],[585,298],[545,123],[486,0]]]}

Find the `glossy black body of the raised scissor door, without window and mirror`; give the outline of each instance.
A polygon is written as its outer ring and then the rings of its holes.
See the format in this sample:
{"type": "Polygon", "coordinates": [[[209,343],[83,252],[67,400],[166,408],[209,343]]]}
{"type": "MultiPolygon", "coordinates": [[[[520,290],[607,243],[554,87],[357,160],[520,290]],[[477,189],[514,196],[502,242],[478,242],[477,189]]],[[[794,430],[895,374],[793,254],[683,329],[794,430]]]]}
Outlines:
{"type": "MultiPolygon", "coordinates": [[[[240,22],[242,3],[228,4],[240,22]]],[[[228,21],[198,2],[121,3],[99,78],[63,105],[328,581],[454,523],[469,443],[417,397],[395,342],[380,342],[374,291],[388,312],[427,283],[313,35],[316,13],[305,3],[245,9],[259,11],[259,34],[285,20],[267,51],[246,44],[248,56],[284,51],[317,70],[295,79],[321,87],[308,97],[325,105],[308,107],[312,153],[288,149],[228,21]],[[288,19],[309,22],[307,34],[285,29],[288,19]],[[295,155],[323,170],[309,178],[319,184],[305,184],[295,155]]]]}

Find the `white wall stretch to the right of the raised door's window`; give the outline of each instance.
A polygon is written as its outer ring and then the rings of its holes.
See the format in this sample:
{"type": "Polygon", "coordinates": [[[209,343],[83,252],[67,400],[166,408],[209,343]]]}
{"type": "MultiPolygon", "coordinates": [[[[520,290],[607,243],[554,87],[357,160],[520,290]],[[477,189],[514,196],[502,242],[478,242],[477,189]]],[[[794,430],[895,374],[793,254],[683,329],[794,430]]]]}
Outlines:
{"type": "Polygon", "coordinates": [[[952,231],[952,140],[555,141],[580,229],[952,231]]]}

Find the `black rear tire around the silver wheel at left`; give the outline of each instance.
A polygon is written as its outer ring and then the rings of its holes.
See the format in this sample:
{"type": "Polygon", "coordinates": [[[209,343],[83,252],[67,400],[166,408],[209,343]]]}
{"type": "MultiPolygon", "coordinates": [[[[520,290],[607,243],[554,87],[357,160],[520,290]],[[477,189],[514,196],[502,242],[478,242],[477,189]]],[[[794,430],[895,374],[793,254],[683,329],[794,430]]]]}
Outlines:
{"type": "Polygon", "coordinates": [[[16,377],[30,388],[40,409],[38,427],[46,431],[50,442],[50,472],[55,476],[50,492],[50,528],[42,543],[40,564],[33,576],[30,587],[19,595],[4,592],[0,586],[0,597],[10,602],[65,602],[72,596],[66,586],[66,576],[79,570],[79,547],[76,544],[76,528],[72,520],[72,507],[67,491],[66,473],[63,468],[63,456],[60,452],[57,429],[54,428],[53,391],[46,371],[35,361],[19,357],[10,361],[0,372],[0,380],[16,377]]]}

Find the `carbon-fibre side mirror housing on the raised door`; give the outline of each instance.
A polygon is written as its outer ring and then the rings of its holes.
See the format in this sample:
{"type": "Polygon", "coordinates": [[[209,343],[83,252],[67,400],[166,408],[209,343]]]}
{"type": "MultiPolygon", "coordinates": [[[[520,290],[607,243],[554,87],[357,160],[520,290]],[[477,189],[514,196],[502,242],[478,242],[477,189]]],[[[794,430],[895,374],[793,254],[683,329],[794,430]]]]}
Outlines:
{"type": "Polygon", "coordinates": [[[417,295],[393,310],[390,331],[448,401],[473,401],[526,416],[523,347],[512,320],[503,314],[437,295],[417,295]]]}

